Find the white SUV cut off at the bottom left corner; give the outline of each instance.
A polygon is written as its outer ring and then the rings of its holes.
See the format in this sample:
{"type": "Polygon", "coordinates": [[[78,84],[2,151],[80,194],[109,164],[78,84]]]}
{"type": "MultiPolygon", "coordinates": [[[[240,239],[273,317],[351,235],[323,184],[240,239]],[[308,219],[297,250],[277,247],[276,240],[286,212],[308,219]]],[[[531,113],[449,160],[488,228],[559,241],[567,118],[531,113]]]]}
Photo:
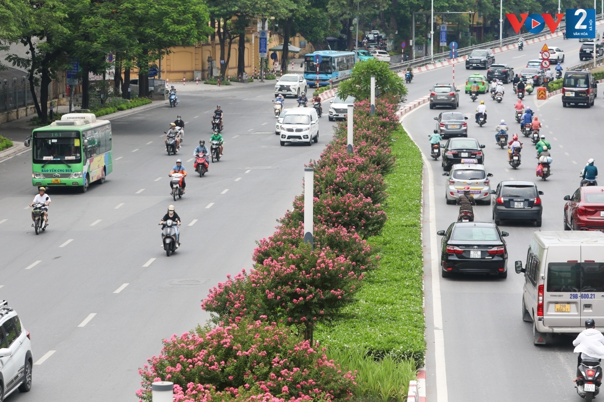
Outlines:
{"type": "Polygon", "coordinates": [[[6,300],[0,300],[0,401],[31,389],[30,333],[6,300]]]}

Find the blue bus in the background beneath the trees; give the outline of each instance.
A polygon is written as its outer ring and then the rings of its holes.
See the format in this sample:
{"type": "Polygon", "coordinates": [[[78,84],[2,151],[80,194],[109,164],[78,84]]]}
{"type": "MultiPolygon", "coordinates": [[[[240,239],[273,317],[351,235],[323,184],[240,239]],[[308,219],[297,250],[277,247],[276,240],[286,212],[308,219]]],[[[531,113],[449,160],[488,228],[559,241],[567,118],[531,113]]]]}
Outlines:
{"type": "Polygon", "coordinates": [[[309,87],[316,87],[315,54],[320,54],[323,60],[319,64],[319,86],[329,85],[330,79],[341,75],[349,75],[355,66],[354,52],[339,52],[335,50],[319,50],[304,55],[304,78],[309,87]]]}

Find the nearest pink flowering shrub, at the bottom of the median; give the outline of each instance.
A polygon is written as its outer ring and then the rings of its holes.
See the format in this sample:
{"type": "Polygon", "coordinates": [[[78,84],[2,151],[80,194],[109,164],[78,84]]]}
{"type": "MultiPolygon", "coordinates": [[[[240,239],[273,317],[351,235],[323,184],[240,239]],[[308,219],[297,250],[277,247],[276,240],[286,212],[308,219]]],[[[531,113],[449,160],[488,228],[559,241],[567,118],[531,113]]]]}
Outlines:
{"type": "Polygon", "coordinates": [[[151,401],[151,384],[175,384],[174,400],[302,402],[347,399],[350,372],[274,322],[220,323],[164,339],[159,356],[139,369],[141,401],[151,401]]]}

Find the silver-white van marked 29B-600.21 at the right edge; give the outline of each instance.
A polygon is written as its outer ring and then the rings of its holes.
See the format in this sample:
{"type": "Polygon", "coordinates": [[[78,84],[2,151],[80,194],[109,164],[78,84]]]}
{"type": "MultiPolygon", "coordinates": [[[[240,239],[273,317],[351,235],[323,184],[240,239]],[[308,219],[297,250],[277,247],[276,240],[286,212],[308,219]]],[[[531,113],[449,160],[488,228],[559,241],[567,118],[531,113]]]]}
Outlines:
{"type": "Polygon", "coordinates": [[[580,333],[593,318],[604,330],[604,233],[538,231],[533,234],[524,272],[522,319],[533,321],[533,342],[550,333],[580,333]]]}

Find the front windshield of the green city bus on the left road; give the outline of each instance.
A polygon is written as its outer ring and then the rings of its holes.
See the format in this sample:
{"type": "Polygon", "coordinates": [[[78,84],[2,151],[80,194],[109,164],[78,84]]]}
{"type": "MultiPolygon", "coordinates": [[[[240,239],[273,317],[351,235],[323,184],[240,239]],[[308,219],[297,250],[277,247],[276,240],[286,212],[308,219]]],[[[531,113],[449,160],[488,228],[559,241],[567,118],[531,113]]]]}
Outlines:
{"type": "Polygon", "coordinates": [[[77,131],[34,131],[32,145],[34,163],[82,162],[77,131]]]}

